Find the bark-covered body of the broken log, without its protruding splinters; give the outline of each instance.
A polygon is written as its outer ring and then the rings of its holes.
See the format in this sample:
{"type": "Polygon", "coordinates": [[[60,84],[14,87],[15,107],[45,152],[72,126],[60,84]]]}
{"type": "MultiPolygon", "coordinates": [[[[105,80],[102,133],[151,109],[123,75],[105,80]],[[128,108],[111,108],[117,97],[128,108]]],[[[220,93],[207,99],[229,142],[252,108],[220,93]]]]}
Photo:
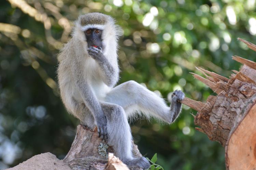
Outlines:
{"type": "Polygon", "coordinates": [[[251,106],[248,100],[255,93],[255,84],[236,79],[227,92],[216,97],[212,107],[208,106],[209,112],[197,113],[194,123],[201,126],[210,140],[225,146],[237,116],[243,113],[245,106],[251,106]]]}

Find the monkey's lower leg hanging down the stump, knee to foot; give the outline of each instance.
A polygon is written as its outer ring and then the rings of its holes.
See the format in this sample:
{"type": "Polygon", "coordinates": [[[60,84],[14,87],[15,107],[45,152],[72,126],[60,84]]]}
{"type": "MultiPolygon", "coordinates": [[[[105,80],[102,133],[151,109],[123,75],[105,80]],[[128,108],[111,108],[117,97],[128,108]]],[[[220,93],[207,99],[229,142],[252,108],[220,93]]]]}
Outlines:
{"type": "Polygon", "coordinates": [[[107,119],[108,143],[114,152],[129,168],[147,169],[150,163],[145,157],[134,158],[132,155],[132,136],[123,107],[101,103],[101,108],[107,119]]]}

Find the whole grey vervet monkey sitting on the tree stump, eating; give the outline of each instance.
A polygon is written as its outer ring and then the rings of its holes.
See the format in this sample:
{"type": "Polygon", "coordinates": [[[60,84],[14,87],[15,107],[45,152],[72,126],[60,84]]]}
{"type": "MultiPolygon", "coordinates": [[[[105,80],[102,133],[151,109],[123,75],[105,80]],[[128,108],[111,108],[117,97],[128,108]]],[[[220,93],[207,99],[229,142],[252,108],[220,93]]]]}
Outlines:
{"type": "Polygon", "coordinates": [[[112,17],[89,13],[75,21],[71,40],[58,55],[58,81],[67,110],[113,146],[129,168],[147,169],[145,157],[132,155],[132,136],[128,118],[143,113],[172,123],[179,116],[185,95],[174,91],[171,107],[155,92],[135,81],[115,87],[118,81],[118,35],[120,28],[112,17]]]}

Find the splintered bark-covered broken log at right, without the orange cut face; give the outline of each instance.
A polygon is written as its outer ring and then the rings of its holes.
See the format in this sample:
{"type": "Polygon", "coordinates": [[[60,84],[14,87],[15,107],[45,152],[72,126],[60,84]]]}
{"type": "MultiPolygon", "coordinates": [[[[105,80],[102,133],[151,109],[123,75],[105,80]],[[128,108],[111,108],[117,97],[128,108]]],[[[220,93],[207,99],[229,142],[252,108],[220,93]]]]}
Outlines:
{"type": "MultiPolygon", "coordinates": [[[[254,62],[238,56],[234,56],[233,59],[243,64],[254,65],[254,62]]],[[[225,146],[234,123],[246,114],[244,111],[250,109],[256,100],[252,97],[256,94],[256,70],[243,65],[240,71],[234,71],[237,74],[232,74],[230,79],[202,68],[198,70],[206,78],[193,73],[194,77],[207,84],[218,95],[209,96],[207,103],[188,98],[185,98],[182,103],[198,111],[194,123],[201,128],[196,130],[207,134],[210,140],[218,141],[225,146]]]]}

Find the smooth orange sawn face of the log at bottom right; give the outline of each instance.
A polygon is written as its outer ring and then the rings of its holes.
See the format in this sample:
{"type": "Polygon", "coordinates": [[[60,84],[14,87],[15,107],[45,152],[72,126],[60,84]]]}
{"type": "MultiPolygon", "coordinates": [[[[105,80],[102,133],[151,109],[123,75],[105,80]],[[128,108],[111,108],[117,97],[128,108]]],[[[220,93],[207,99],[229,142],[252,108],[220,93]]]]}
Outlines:
{"type": "Polygon", "coordinates": [[[252,108],[246,107],[238,117],[226,143],[226,168],[230,170],[256,169],[255,99],[250,102],[252,108]]]}

